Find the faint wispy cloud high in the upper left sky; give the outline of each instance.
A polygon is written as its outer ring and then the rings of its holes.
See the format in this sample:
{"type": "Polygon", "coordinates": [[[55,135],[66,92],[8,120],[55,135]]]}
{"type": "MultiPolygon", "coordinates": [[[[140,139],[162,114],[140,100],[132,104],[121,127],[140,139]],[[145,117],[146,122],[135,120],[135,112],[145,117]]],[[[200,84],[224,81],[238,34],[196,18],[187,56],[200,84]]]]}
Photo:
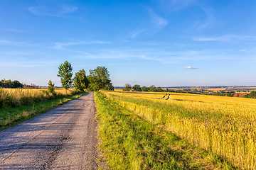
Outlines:
{"type": "Polygon", "coordinates": [[[28,8],[28,11],[36,16],[55,16],[55,17],[65,17],[68,13],[73,13],[78,10],[77,6],[33,6],[28,8]]]}

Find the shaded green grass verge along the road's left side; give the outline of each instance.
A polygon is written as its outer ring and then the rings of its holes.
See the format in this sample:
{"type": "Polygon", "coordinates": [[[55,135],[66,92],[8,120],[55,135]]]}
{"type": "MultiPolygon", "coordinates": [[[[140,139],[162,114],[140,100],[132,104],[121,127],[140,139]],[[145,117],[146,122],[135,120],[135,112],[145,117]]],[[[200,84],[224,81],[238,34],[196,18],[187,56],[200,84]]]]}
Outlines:
{"type": "Polygon", "coordinates": [[[63,98],[50,99],[47,101],[41,101],[37,103],[30,104],[28,106],[18,106],[15,108],[1,108],[0,109],[0,130],[9,128],[10,126],[21,123],[25,120],[33,118],[36,115],[50,111],[50,109],[56,108],[63,103],[78,98],[87,92],[82,92],[80,94],[73,94],[70,96],[65,96],[63,98]]]}

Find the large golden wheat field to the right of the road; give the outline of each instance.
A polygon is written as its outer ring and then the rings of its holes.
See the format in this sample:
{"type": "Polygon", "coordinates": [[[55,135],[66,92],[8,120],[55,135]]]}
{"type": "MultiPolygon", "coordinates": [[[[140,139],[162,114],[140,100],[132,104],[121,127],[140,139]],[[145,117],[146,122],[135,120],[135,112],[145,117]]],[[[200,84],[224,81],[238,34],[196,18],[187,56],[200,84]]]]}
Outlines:
{"type": "Polygon", "coordinates": [[[256,100],[253,98],[157,92],[103,93],[238,169],[256,169],[256,100]]]}

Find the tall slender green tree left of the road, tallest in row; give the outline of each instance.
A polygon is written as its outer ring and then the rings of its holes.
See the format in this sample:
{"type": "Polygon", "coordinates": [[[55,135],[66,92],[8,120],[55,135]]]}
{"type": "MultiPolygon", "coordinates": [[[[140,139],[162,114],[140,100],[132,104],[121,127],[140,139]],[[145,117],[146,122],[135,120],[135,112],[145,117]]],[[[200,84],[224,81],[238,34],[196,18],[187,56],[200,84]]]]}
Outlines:
{"type": "Polygon", "coordinates": [[[58,74],[57,76],[60,77],[61,85],[66,91],[68,88],[72,86],[73,83],[73,73],[72,73],[73,67],[71,66],[71,63],[68,61],[65,61],[63,64],[60,64],[58,67],[58,74]]]}

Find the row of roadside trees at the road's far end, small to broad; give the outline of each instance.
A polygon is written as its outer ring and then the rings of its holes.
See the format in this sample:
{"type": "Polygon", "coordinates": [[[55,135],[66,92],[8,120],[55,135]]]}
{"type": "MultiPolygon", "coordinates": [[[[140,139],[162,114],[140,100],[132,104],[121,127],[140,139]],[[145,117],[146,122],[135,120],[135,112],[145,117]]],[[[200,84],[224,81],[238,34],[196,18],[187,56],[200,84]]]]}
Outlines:
{"type": "MultiPolygon", "coordinates": [[[[85,70],[81,69],[75,73],[73,77],[73,67],[70,62],[65,61],[58,67],[57,76],[60,77],[61,85],[67,90],[74,86],[76,91],[84,91],[89,89],[92,91],[102,90],[114,90],[114,86],[110,80],[110,72],[106,67],[97,67],[96,69],[90,69],[90,74],[86,76],[85,70]]],[[[51,81],[48,83],[48,89],[50,86],[54,86],[51,81]]]]}

